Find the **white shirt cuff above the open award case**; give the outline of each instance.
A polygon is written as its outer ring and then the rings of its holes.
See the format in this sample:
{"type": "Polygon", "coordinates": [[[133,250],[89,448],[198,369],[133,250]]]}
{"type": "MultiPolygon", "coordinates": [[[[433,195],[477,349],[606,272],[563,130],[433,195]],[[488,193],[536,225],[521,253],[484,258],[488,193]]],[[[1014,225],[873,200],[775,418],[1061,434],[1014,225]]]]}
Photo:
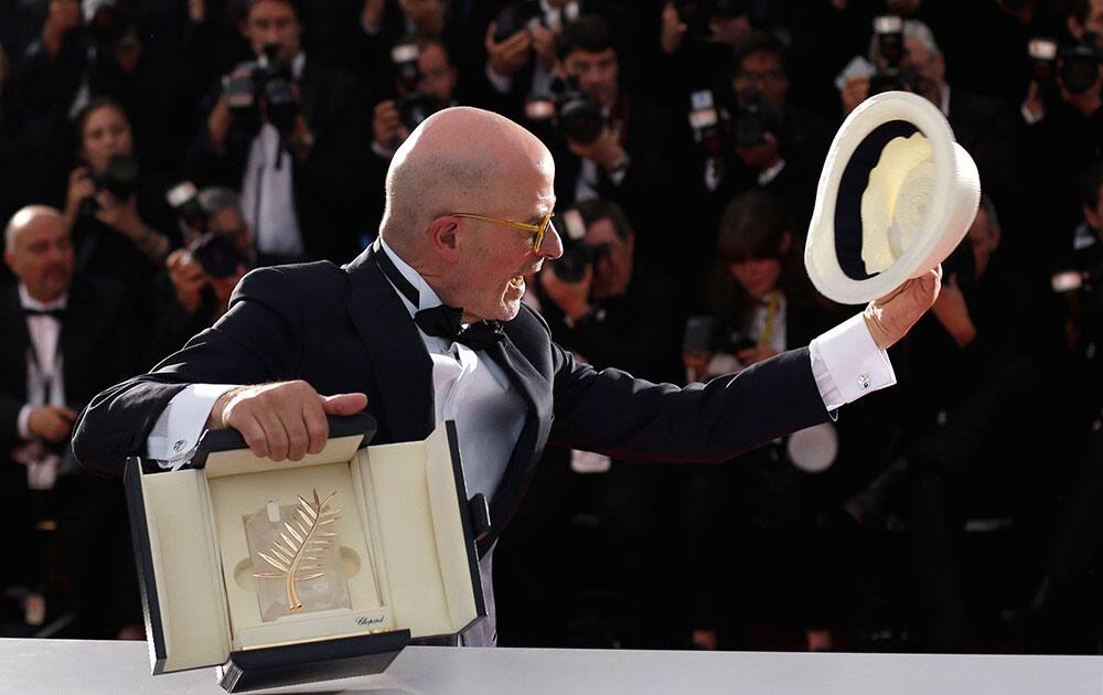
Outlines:
{"type": "Polygon", "coordinates": [[[161,411],[149,439],[146,452],[161,468],[178,469],[195,455],[214,402],[234,384],[192,384],[172,397],[161,411]]]}

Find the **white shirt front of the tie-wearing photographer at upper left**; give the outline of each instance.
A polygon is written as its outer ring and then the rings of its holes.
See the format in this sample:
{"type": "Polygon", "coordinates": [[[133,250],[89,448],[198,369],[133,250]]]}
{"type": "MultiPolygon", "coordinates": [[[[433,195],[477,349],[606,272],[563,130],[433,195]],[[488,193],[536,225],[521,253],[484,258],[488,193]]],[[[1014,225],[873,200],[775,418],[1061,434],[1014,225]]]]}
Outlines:
{"type": "MultiPolygon", "coordinates": [[[[307,56],[291,63],[296,79],[307,56]]],[[[283,147],[279,131],[265,122],[249,146],[242,181],[242,212],[256,229],[257,250],[275,256],[302,256],[302,232],[295,212],[295,160],[283,147]]]]}

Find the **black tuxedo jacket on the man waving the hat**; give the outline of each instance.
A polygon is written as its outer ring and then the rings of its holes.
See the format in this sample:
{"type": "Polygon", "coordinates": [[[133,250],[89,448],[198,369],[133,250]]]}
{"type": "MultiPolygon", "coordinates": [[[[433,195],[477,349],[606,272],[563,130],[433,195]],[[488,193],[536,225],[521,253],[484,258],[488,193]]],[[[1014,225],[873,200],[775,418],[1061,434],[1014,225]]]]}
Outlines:
{"type": "MultiPolygon", "coordinates": [[[[521,501],[548,443],[630,461],[719,462],[827,418],[807,350],[784,353],[707,385],[678,388],[579,364],[527,307],[485,356],[525,403],[524,427],[490,500],[485,552],[521,501]]],[[[326,261],[254,270],[229,311],[152,372],[96,396],[74,450],[93,470],[121,474],[169,400],[191,383],[304,379],[321,394],[364,392],[374,443],[420,440],[433,421],[432,363],[406,306],[371,249],[326,261]]],[[[470,466],[471,462],[468,462],[470,466]]]]}

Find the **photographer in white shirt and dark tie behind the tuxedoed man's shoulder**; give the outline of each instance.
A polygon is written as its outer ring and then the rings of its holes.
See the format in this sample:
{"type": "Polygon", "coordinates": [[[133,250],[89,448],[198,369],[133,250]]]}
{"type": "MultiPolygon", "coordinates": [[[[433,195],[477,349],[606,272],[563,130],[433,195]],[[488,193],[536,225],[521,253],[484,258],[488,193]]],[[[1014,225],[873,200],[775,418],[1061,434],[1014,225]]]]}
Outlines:
{"type": "Polygon", "coordinates": [[[223,78],[192,142],[192,178],[242,191],[261,265],[344,258],[363,227],[356,171],[367,156],[358,83],[308,60],[298,0],[248,0],[257,60],[223,78]]]}

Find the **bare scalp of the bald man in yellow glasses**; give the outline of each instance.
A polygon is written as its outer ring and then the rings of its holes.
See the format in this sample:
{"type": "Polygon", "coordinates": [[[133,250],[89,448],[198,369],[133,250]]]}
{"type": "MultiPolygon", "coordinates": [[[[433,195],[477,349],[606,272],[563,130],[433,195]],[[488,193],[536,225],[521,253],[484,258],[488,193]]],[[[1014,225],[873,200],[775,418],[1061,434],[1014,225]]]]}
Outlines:
{"type": "Polygon", "coordinates": [[[471,107],[427,118],[387,171],[381,233],[396,250],[414,252],[440,215],[492,214],[535,174],[554,174],[552,153],[512,120],[471,107]]]}

